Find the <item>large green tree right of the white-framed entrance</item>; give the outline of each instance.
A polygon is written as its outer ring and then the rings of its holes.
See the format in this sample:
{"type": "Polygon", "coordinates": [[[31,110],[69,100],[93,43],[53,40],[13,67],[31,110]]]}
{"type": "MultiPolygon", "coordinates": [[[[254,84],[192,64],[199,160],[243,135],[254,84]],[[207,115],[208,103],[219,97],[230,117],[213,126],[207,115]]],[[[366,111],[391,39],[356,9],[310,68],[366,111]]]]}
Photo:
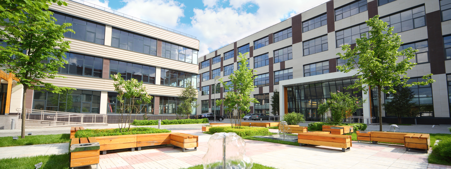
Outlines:
{"type": "Polygon", "coordinates": [[[423,76],[422,82],[407,83],[409,79],[405,74],[407,70],[412,69],[416,63],[409,62],[414,59],[415,52],[407,48],[398,51],[402,44],[400,36],[393,31],[393,27],[387,28],[387,23],[379,19],[379,15],[374,16],[366,21],[371,27],[369,38],[363,34],[361,38],[356,39],[354,49],[350,45],[341,46],[344,54],[337,53],[341,59],[348,60],[345,65],[337,66],[341,72],[348,73],[355,71],[354,77],[358,80],[347,88],[358,88],[365,94],[368,89],[377,87],[378,89],[378,106],[379,106],[379,130],[382,131],[382,94],[396,93],[394,86],[402,85],[410,87],[412,85],[427,85],[435,82],[428,79],[432,74],[423,76]],[[404,56],[405,59],[398,61],[398,56],[404,56]],[[402,77],[402,78],[401,78],[402,77]]]}

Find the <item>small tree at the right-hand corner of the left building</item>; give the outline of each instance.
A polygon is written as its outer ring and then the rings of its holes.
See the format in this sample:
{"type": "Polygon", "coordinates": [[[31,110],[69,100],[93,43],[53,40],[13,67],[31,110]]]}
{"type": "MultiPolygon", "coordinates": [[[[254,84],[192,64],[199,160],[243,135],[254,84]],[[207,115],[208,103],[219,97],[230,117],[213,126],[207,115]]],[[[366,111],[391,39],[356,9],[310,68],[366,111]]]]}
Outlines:
{"type": "Polygon", "coordinates": [[[186,116],[186,119],[189,119],[189,115],[193,112],[193,108],[197,108],[199,105],[196,104],[197,100],[196,88],[194,88],[190,84],[186,84],[185,90],[183,90],[179,94],[179,99],[182,101],[179,107],[177,108],[177,119],[181,119],[186,116]]]}

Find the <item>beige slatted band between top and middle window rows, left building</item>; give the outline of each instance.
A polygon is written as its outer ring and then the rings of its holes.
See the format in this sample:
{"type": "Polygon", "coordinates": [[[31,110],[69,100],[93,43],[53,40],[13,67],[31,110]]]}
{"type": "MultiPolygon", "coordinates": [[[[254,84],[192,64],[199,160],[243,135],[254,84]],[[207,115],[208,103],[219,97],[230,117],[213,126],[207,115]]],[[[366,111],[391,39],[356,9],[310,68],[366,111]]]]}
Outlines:
{"type": "MultiPolygon", "coordinates": [[[[65,38],[66,39],[66,38],[65,38]]],[[[88,55],[96,55],[110,59],[119,59],[134,63],[147,64],[166,69],[175,69],[185,72],[198,73],[199,66],[196,64],[184,63],[172,59],[166,59],[158,56],[146,55],[129,50],[123,50],[115,47],[98,45],[86,41],[67,38],[72,41],[70,51],[84,53],[88,55]]]]}

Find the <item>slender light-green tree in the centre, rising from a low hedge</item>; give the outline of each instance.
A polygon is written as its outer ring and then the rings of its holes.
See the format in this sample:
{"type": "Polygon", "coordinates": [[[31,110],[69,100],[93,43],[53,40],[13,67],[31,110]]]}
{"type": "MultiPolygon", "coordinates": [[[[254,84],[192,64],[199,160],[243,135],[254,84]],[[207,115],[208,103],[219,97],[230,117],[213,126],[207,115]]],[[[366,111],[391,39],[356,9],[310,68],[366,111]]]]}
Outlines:
{"type": "Polygon", "coordinates": [[[250,103],[259,103],[257,99],[250,97],[252,91],[254,91],[254,71],[253,69],[249,69],[247,66],[248,62],[245,54],[239,53],[239,64],[241,66],[238,70],[235,70],[230,76],[229,79],[232,82],[231,85],[227,85],[224,82],[224,79],[219,79],[221,85],[225,90],[230,90],[226,93],[226,98],[216,100],[216,105],[223,105],[223,110],[230,118],[230,124],[232,128],[241,127],[241,119],[243,119],[244,115],[250,112],[250,103]],[[231,90],[232,87],[236,91],[231,90]]]}

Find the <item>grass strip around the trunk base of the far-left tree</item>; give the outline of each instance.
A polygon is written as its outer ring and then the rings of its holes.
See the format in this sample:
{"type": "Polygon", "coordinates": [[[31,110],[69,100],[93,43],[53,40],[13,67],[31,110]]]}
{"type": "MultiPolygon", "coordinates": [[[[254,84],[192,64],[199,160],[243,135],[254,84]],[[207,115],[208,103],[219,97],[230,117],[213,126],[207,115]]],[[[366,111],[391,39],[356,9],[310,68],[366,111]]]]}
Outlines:
{"type": "MultiPolygon", "coordinates": [[[[13,140],[13,137],[0,137],[0,147],[52,144],[70,141],[70,134],[32,135],[25,136],[25,138],[20,138],[20,136],[18,137],[18,140],[13,140]]],[[[0,169],[3,168],[0,167],[0,169]]]]}

